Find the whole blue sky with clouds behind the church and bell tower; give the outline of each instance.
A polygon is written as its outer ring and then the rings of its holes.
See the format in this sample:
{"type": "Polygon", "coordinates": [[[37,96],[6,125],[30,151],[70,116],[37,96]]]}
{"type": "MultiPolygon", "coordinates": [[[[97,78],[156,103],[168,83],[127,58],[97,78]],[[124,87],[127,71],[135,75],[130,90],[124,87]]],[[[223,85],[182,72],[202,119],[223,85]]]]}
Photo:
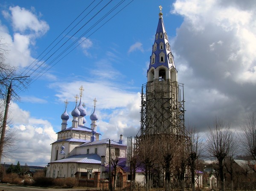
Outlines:
{"type": "Polygon", "coordinates": [[[10,105],[9,130],[16,132],[17,144],[2,163],[47,165],[50,144],[61,130],[64,101],[69,102],[71,126],[80,86],[88,127],[93,99],[97,100],[100,139],[136,136],[141,86],[147,80],[160,5],[178,82],[184,84],[186,126],[204,133],[215,117],[221,117],[239,131],[245,117],[255,111],[254,0],[126,0],[92,28],[119,2],[1,1],[0,37],[9,50],[6,63],[33,79],[18,93],[20,102],[10,105]],[[90,3],[99,6],[90,12],[90,3]],[[72,43],[76,48],[61,54],[72,43]],[[48,46],[52,50],[44,51],[48,46]]]}

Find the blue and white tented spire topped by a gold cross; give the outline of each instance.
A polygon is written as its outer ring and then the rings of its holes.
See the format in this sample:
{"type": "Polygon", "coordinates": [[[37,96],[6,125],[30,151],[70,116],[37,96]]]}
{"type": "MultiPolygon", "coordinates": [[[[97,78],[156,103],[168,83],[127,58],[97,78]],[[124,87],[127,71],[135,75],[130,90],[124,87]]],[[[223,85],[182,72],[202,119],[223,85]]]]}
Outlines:
{"type": "Polygon", "coordinates": [[[155,41],[152,49],[152,54],[150,57],[148,71],[150,70],[151,67],[157,68],[159,66],[165,66],[168,69],[175,68],[176,70],[166,29],[163,23],[163,14],[161,6],[159,13],[159,21],[157,25],[157,32],[155,35],[155,41]]]}

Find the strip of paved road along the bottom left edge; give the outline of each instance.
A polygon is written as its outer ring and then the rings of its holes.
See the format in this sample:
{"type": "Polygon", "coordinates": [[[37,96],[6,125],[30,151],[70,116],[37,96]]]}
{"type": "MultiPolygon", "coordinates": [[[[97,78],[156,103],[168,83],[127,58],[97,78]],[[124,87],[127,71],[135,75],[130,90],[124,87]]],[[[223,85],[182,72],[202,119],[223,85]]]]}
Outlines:
{"type": "Polygon", "coordinates": [[[37,188],[27,186],[17,186],[10,184],[0,184],[0,191],[88,191],[96,188],[78,187],[78,188],[37,188]]]}

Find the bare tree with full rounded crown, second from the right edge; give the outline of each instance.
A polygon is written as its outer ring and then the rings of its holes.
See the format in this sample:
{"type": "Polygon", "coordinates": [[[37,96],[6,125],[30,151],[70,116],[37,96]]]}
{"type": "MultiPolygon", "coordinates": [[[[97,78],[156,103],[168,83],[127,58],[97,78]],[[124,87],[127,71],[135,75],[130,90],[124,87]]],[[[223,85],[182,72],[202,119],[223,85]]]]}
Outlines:
{"type": "Polygon", "coordinates": [[[223,119],[215,119],[214,127],[209,127],[207,133],[206,149],[210,157],[218,160],[221,191],[224,191],[224,158],[232,150],[234,132],[230,129],[230,123],[225,124],[223,119]]]}

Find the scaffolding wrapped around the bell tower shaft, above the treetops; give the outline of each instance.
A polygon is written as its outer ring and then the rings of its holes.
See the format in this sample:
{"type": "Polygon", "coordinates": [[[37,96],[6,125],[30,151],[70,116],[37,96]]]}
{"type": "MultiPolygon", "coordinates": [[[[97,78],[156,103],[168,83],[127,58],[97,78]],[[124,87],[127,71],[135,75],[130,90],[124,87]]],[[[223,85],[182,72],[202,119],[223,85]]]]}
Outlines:
{"type": "Polygon", "coordinates": [[[157,79],[143,84],[140,135],[184,135],[184,102],[181,83],[157,79]]]}

